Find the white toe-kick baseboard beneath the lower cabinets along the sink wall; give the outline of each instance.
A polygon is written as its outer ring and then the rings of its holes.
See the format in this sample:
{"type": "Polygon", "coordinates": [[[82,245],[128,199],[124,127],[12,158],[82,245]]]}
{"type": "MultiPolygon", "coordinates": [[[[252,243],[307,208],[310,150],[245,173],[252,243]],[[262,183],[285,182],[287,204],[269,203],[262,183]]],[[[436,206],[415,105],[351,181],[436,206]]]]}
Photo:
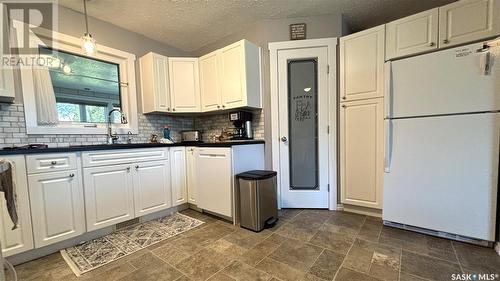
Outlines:
{"type": "MultiPolygon", "coordinates": [[[[162,211],[158,211],[156,213],[152,213],[152,214],[148,214],[148,215],[145,215],[143,217],[140,217],[139,222],[142,223],[142,222],[154,220],[157,218],[165,217],[167,215],[170,215],[170,214],[178,212],[178,211],[185,210],[187,208],[189,208],[188,204],[182,204],[179,206],[171,207],[171,208],[168,208],[168,209],[165,209],[162,211]]],[[[58,242],[58,243],[54,243],[52,245],[48,245],[45,247],[41,247],[41,248],[26,251],[23,253],[19,253],[16,255],[12,255],[12,256],[6,257],[5,259],[7,259],[13,265],[18,265],[18,264],[32,261],[32,260],[35,260],[35,259],[38,259],[38,258],[41,258],[44,256],[48,256],[48,255],[56,253],[62,249],[65,249],[68,247],[73,247],[75,245],[81,244],[85,241],[89,241],[89,240],[92,240],[95,238],[102,237],[104,235],[112,233],[113,231],[115,231],[115,229],[116,229],[115,225],[108,226],[108,227],[94,230],[91,232],[86,232],[80,236],[73,237],[73,238],[70,238],[68,240],[58,242]]]]}

